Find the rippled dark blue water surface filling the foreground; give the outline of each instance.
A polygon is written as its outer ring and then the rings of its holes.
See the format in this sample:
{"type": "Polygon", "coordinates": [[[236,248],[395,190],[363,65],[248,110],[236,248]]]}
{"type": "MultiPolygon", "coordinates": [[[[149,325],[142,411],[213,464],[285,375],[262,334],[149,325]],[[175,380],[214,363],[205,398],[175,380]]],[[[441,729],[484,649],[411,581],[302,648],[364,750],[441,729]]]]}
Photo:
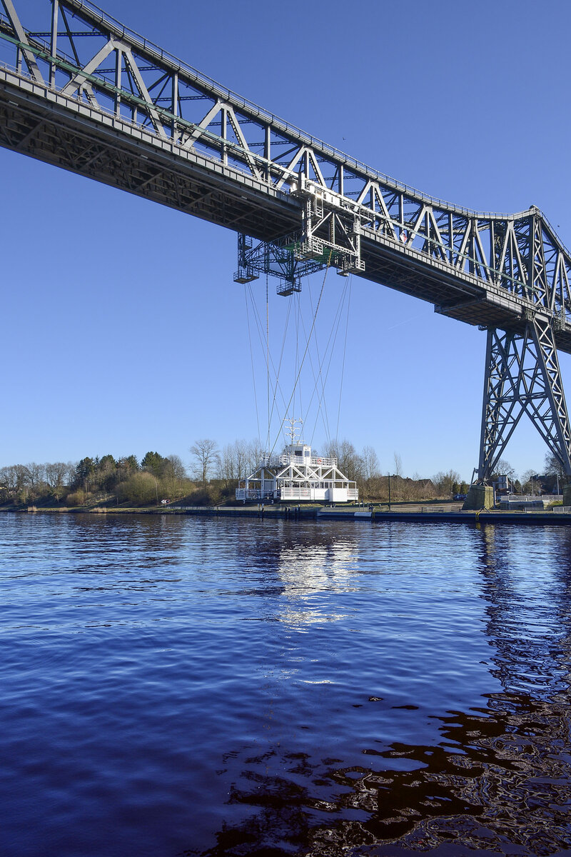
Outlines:
{"type": "Polygon", "coordinates": [[[571,854],[571,532],[0,515],[0,846],[571,854]]]}

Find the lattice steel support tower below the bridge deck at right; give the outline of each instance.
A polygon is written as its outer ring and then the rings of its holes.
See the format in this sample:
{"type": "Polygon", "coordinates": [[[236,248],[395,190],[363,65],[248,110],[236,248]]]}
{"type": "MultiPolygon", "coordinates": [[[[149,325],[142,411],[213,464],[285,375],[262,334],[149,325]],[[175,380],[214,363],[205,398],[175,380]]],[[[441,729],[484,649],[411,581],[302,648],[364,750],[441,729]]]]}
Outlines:
{"type": "Polygon", "coordinates": [[[554,320],[528,313],[523,332],[492,327],[487,337],[478,484],[489,482],[523,413],[571,482],[571,431],[554,320]]]}

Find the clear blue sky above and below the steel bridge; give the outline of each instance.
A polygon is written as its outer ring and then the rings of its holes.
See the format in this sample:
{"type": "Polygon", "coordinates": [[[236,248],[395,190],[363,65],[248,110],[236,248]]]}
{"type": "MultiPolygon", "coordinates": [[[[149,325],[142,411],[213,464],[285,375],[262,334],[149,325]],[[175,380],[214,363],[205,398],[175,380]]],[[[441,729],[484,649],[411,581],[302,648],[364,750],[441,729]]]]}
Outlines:
{"type": "MultiPolygon", "coordinates": [[[[15,5],[25,26],[48,28],[48,0],[15,5]]],[[[568,3],[103,5],[206,75],[390,176],[482,211],[533,203],[571,243],[568,3]]],[[[223,446],[255,437],[258,422],[265,435],[264,355],[254,352],[257,421],[244,290],[232,279],[234,233],[3,149],[0,174],[0,464],[148,449],[187,462],[199,437],[223,446]]],[[[304,285],[306,302],[322,279],[304,285]]],[[[328,274],[323,344],[343,285],[328,274]]],[[[265,282],[253,290],[265,314],[265,282]]],[[[287,302],[272,281],[270,291],[279,351],[287,302]]],[[[347,343],[339,435],[374,446],[384,471],[398,452],[407,475],[454,468],[469,478],[485,333],[353,278],[347,343]]],[[[571,359],[560,360],[569,401],[571,359]]],[[[339,340],[333,424],[341,363],[339,340]]],[[[284,366],[285,389],[293,345],[284,366]]],[[[315,446],[325,439],[322,426],[313,438],[315,446]]],[[[524,417],[505,458],[519,472],[541,470],[544,452],[524,417]]]]}

